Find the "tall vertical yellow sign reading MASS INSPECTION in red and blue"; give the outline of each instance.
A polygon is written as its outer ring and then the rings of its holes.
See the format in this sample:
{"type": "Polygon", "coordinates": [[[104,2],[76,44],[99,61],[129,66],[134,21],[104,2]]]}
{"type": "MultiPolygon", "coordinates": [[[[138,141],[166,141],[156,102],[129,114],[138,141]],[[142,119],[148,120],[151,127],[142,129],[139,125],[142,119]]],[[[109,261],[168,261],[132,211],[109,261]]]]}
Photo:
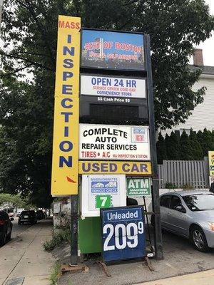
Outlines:
{"type": "Polygon", "coordinates": [[[58,16],[51,195],[78,193],[81,19],[58,16]]]}

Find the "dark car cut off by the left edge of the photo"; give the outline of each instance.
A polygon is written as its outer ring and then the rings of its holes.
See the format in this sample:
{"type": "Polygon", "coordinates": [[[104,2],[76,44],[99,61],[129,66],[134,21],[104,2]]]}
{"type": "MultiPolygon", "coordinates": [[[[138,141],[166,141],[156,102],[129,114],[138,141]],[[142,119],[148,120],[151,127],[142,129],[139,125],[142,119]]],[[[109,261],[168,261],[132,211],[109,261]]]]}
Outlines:
{"type": "Polygon", "coordinates": [[[9,218],[9,215],[4,211],[0,211],[0,245],[4,245],[6,240],[11,239],[14,218],[9,218]]]}

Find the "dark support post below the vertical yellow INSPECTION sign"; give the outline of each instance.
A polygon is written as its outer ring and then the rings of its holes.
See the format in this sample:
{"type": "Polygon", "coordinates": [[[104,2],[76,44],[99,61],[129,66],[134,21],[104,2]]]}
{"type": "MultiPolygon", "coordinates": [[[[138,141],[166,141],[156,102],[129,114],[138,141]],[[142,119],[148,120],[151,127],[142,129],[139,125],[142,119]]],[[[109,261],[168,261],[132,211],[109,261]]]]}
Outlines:
{"type": "Polygon", "coordinates": [[[71,266],[78,265],[78,195],[71,196],[71,266]]]}

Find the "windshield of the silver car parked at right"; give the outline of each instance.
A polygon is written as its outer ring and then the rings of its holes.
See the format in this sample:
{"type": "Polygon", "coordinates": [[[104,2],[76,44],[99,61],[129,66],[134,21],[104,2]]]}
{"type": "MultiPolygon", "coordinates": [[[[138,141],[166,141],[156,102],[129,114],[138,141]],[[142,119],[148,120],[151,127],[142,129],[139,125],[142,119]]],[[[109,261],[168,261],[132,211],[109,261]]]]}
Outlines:
{"type": "Polygon", "coordinates": [[[188,208],[195,211],[205,211],[214,209],[214,195],[213,194],[194,194],[183,196],[183,200],[188,208]]]}

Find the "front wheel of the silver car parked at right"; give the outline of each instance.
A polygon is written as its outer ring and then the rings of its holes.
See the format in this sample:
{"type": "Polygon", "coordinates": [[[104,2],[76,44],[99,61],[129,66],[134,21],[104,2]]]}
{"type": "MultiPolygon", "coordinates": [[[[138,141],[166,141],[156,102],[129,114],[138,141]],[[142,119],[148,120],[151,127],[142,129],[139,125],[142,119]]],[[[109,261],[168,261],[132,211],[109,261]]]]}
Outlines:
{"type": "Polygon", "coordinates": [[[193,227],[190,232],[190,239],[193,242],[195,249],[199,250],[199,252],[208,252],[208,242],[205,237],[205,234],[200,227],[193,227]]]}

